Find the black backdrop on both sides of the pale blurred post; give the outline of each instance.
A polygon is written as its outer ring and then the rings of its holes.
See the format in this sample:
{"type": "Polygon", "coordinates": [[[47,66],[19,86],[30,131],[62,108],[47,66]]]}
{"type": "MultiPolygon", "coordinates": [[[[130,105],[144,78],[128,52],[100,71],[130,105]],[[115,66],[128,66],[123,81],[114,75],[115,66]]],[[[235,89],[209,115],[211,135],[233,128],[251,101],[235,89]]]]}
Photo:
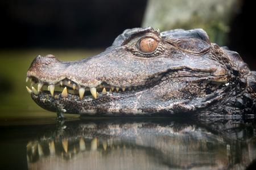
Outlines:
{"type": "MultiPolygon", "coordinates": [[[[106,48],[124,29],[141,27],[146,3],[146,0],[2,0],[0,49],[106,48]]],[[[251,69],[256,70],[253,3],[244,1],[231,22],[226,45],[239,52],[251,69]]]]}

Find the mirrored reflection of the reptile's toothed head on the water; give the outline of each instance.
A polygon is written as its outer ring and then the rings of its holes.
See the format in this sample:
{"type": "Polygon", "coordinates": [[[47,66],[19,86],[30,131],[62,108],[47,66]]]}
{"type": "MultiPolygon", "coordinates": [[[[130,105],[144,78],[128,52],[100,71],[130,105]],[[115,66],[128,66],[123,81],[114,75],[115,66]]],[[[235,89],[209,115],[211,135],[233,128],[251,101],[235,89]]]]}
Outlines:
{"type": "Polygon", "coordinates": [[[254,120],[80,120],[30,141],[28,169],[245,169],[255,139],[254,120]]]}

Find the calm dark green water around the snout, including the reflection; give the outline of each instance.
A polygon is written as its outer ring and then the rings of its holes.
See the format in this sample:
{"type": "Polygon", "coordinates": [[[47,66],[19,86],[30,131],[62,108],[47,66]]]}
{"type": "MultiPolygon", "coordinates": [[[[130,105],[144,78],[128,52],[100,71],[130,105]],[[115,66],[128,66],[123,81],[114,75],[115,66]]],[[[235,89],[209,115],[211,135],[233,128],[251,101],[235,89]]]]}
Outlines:
{"type": "Polygon", "coordinates": [[[50,53],[77,60],[99,51],[0,52],[0,169],[246,169],[255,164],[255,120],[65,115],[64,122],[56,121],[55,113],[32,101],[25,81],[32,60],[50,53]]]}

